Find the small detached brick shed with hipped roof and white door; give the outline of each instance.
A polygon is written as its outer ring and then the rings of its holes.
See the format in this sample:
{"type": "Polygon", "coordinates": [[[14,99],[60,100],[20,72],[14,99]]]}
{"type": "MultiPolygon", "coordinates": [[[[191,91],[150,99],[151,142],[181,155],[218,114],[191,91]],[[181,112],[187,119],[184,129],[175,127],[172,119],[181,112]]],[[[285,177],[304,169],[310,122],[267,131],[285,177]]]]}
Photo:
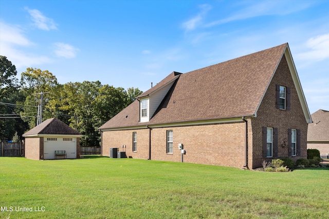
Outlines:
{"type": "Polygon", "coordinates": [[[57,118],[49,118],[23,136],[26,158],[32,160],[80,158],[82,135],[57,118]]]}

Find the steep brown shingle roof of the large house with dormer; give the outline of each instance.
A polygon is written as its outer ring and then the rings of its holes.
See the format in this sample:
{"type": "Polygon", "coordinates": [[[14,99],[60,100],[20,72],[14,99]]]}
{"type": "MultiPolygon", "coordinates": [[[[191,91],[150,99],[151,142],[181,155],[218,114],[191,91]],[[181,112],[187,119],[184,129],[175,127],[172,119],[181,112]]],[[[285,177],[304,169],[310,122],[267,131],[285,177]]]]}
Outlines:
{"type": "Polygon", "coordinates": [[[149,122],[139,122],[139,102],[135,101],[99,129],[256,116],[282,57],[287,59],[305,119],[310,123],[308,107],[286,43],[185,74],[173,72],[138,96],[154,93],[175,79],[149,122]]]}

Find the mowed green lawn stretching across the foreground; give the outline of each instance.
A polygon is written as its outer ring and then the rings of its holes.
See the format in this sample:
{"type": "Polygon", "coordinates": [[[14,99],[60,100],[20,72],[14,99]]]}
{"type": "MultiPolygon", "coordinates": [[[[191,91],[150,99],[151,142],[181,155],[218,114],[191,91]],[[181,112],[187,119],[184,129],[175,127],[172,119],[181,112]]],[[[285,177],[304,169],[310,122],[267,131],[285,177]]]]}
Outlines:
{"type": "Polygon", "coordinates": [[[328,197],[329,168],[0,157],[0,218],[328,218],[328,197]]]}

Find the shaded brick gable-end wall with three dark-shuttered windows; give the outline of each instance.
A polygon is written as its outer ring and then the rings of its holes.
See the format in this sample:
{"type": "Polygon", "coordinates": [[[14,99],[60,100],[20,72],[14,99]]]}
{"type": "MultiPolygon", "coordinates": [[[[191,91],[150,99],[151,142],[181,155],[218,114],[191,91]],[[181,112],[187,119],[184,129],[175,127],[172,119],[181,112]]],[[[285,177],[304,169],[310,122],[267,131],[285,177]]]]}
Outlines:
{"type": "MultiPolygon", "coordinates": [[[[292,156],[294,161],[298,158],[306,158],[306,137],[307,123],[299,101],[297,91],[291,77],[285,56],[283,56],[275,75],[265,93],[263,101],[257,112],[257,117],[251,118],[252,126],[252,160],[249,157],[249,168],[261,167],[264,160],[270,161],[272,158],[262,156],[262,127],[278,128],[278,157],[288,157],[288,129],[301,130],[301,154],[292,156]],[[276,85],[290,88],[290,110],[276,109],[276,85]],[[286,142],[285,147],[281,147],[281,141],[286,142]]],[[[251,145],[249,145],[251,148],[251,145]]],[[[249,155],[251,155],[249,153],[249,155]]]]}

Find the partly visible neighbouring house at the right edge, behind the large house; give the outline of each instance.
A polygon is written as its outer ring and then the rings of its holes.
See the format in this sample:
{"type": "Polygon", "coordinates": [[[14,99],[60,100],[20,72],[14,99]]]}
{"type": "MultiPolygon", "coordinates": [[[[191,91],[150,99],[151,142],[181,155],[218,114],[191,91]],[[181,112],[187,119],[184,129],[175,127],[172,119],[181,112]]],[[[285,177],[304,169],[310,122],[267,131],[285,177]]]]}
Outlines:
{"type": "Polygon", "coordinates": [[[307,148],[318,149],[321,157],[329,155],[329,111],[318,110],[311,115],[314,123],[308,124],[307,148]]]}

